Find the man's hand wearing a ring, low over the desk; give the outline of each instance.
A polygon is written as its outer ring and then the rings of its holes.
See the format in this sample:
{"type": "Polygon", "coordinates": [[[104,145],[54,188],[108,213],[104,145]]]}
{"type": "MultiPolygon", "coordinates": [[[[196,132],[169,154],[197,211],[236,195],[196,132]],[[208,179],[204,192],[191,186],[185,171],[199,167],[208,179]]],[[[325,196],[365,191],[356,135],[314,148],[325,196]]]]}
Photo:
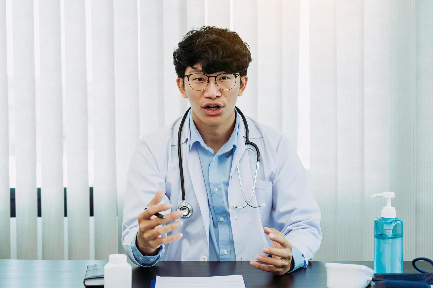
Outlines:
{"type": "Polygon", "coordinates": [[[294,267],[292,244],[284,237],[283,233],[275,228],[264,227],[263,230],[272,240],[272,247],[263,247],[263,252],[271,254],[272,257],[258,254],[256,259],[270,265],[260,264],[256,261],[251,261],[250,264],[257,269],[272,272],[275,275],[283,275],[291,271],[294,267]]]}

